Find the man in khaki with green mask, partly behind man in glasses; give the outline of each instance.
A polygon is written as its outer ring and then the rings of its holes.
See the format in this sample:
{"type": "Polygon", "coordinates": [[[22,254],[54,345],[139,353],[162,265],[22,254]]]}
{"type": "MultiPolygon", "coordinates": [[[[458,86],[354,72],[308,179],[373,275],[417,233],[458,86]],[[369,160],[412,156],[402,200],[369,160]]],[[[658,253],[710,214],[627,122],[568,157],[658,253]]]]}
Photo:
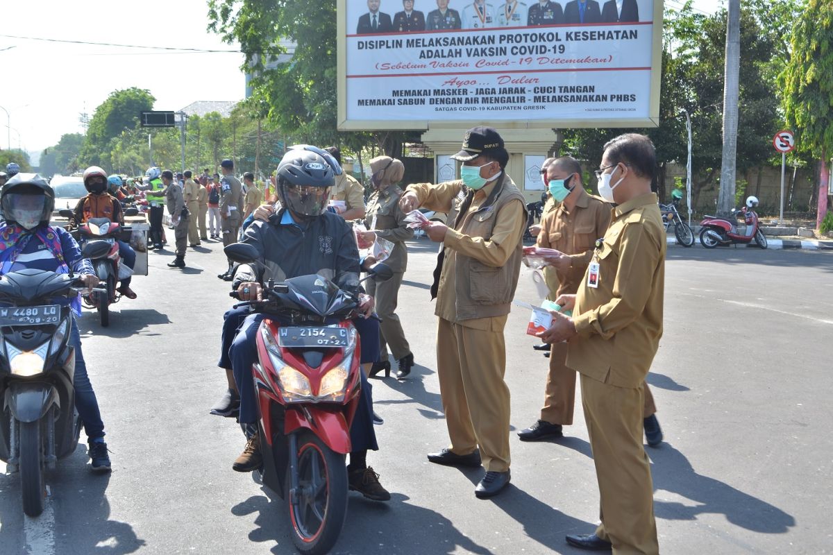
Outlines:
{"type": "MultiPolygon", "coordinates": [[[[575,295],[590,264],[596,239],[605,235],[611,223],[611,206],[598,196],[590,196],[581,183],[581,165],[571,156],[557,158],[547,168],[546,184],[557,208],[541,220],[541,234],[537,246],[556,249],[562,255],[548,260],[555,270],[558,290],[553,299],[561,295],[575,295]]],[[[546,396],[541,409],[541,419],[529,428],[518,432],[523,441],[561,438],[562,426],[572,424],[576,400],[576,371],[566,367],[566,343],[552,345],[550,371],[546,377],[546,396]]],[[[656,423],[656,406],[648,384],[645,388],[646,433],[655,429],[659,434],[648,434],[648,444],[659,444],[662,435],[656,423]],[[652,425],[656,424],[656,426],[652,425]]]]}

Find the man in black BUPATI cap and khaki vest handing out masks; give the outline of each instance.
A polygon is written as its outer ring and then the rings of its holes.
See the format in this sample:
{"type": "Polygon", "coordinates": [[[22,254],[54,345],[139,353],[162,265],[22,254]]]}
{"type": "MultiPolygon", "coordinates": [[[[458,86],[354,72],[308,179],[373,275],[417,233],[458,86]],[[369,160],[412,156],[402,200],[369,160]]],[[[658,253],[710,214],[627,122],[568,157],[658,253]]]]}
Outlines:
{"type": "Polygon", "coordinates": [[[509,154],[491,127],[466,131],[460,181],[408,186],[405,212],[419,206],[449,212],[448,226],[432,223],[443,244],[435,270],[439,325],[436,373],[451,446],[430,453],[431,463],[479,466],[475,488],[490,498],[509,483],[509,388],[503,329],[521,271],[526,228],[523,196],[506,175],[509,154]],[[478,445],[480,450],[478,452],[478,445]]]}

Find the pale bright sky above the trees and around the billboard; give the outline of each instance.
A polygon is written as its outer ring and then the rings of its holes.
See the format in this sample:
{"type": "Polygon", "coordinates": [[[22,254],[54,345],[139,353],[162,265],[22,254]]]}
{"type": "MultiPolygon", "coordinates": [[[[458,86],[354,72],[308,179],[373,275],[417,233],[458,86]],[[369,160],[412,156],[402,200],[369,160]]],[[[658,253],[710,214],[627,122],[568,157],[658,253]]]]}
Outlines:
{"type": "MultiPolygon", "coordinates": [[[[683,0],[666,0],[681,7],[683,0]]],[[[207,32],[207,0],[2,0],[0,107],[10,115],[12,147],[41,151],[63,133],[81,132],[79,114],[92,112],[117,89],[149,90],[156,110],[178,110],[198,100],[242,99],[240,53],[171,52],[64,41],[234,50],[207,32]],[[187,85],[184,84],[187,79],[187,85]]],[[[695,0],[714,12],[723,0],[695,0]]],[[[0,110],[0,146],[7,119],[0,110]]]]}

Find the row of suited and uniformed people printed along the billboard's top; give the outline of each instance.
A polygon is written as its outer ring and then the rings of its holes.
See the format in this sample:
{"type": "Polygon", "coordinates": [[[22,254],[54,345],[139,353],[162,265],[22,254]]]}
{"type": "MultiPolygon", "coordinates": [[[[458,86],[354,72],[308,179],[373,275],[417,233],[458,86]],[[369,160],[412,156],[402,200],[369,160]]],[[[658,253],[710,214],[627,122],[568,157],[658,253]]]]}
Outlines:
{"type": "Polygon", "coordinates": [[[415,9],[415,0],[402,0],[402,11],[393,17],[381,11],[381,0],[367,0],[367,12],[358,19],[356,34],[422,32],[446,29],[488,29],[536,25],[629,23],[639,21],[636,0],[538,0],[527,5],[519,0],[493,4],[486,0],[465,2],[461,12],[448,7],[449,0],[436,0],[436,10],[415,9]]]}

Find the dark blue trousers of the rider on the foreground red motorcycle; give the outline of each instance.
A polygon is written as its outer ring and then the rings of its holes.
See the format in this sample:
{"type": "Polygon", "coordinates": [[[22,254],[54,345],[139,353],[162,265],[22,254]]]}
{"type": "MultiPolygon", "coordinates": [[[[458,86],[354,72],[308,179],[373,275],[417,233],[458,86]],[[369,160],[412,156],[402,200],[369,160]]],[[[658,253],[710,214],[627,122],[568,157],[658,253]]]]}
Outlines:
{"type": "MultiPolygon", "coordinates": [[[[257,422],[257,396],[255,395],[255,386],[252,380],[252,364],[257,362],[257,329],[263,318],[264,315],[262,314],[248,315],[243,320],[240,330],[232,340],[231,349],[229,349],[234,381],[237,384],[237,391],[240,392],[241,424],[254,424],[257,422]]],[[[379,333],[378,325],[376,333],[379,333]]],[[[353,423],[350,427],[350,442],[352,444],[352,451],[367,449],[376,451],[379,445],[376,441],[376,431],[373,429],[372,386],[367,381],[364,372],[361,369],[359,372],[362,379],[362,393],[356,409],[356,416],[353,418],[353,423]]]]}

